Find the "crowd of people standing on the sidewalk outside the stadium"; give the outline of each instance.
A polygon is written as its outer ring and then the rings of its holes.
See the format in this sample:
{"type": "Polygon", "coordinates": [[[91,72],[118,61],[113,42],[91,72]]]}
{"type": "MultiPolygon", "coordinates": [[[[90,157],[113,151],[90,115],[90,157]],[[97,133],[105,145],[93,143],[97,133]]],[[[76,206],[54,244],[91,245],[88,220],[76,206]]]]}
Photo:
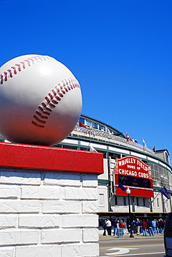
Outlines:
{"type": "Polygon", "coordinates": [[[103,235],[118,235],[119,229],[122,229],[123,235],[129,234],[131,229],[132,233],[143,236],[154,236],[157,233],[164,233],[165,220],[164,219],[135,219],[132,221],[132,228],[127,224],[124,219],[105,219],[103,224],[103,235]]]}

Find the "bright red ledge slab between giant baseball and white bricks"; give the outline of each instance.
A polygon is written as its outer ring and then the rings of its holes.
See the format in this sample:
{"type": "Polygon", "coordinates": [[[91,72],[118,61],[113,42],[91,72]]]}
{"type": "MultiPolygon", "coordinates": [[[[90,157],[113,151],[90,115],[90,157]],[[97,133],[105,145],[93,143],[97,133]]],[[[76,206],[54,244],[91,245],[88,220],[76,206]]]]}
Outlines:
{"type": "Polygon", "coordinates": [[[0,167],[11,170],[103,174],[101,153],[0,142],[0,155],[0,167]]]}

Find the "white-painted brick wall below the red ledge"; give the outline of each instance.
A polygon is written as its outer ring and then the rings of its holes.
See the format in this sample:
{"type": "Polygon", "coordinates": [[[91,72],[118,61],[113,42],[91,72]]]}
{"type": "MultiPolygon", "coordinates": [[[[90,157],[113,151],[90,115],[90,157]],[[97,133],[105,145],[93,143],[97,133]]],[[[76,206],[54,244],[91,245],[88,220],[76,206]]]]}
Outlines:
{"type": "Polygon", "coordinates": [[[0,256],[98,256],[95,174],[0,169],[0,256]]]}

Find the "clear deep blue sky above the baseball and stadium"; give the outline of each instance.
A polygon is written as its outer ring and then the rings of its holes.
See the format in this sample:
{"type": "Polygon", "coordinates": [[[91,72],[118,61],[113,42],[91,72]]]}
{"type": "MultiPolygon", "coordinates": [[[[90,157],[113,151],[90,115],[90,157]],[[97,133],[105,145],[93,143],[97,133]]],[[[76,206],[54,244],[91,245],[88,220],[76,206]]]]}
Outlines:
{"type": "Polygon", "coordinates": [[[83,114],[172,156],[171,0],[0,4],[0,66],[29,53],[53,56],[80,82],[83,114]]]}

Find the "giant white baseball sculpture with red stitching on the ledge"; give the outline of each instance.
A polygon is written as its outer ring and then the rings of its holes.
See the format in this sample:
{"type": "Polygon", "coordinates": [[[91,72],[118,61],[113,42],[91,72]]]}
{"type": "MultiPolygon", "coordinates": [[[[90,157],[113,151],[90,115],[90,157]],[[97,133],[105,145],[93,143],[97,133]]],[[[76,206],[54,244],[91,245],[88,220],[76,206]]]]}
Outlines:
{"type": "Polygon", "coordinates": [[[54,58],[19,56],[0,68],[0,134],[10,142],[57,144],[81,109],[78,81],[54,58]]]}

